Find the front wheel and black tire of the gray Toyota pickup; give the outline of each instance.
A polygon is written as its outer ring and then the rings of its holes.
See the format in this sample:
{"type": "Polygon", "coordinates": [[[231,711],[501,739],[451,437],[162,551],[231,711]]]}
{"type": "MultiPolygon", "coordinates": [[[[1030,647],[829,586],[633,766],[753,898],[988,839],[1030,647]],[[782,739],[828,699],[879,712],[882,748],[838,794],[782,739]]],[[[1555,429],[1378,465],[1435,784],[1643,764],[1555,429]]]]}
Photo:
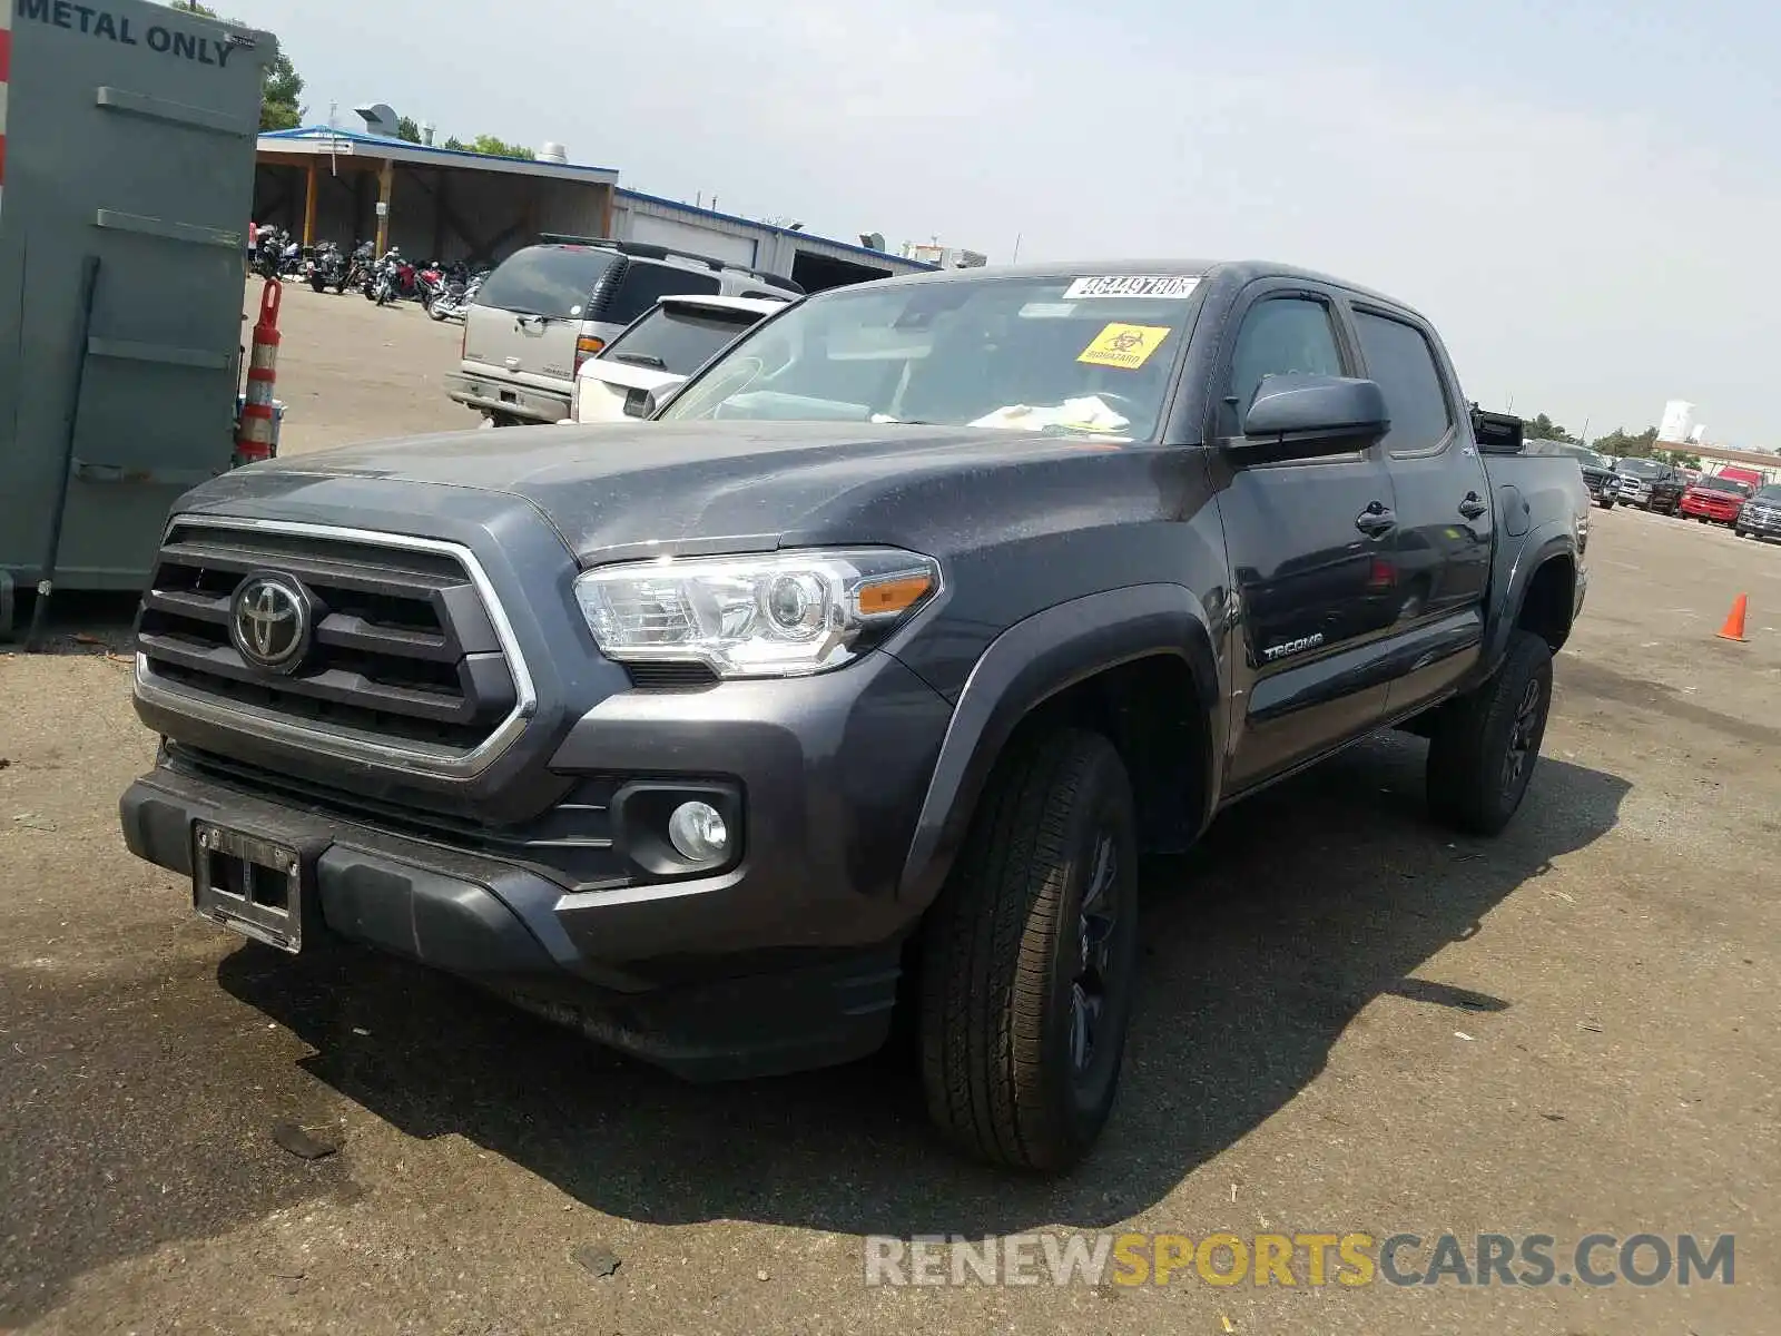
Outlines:
{"type": "Polygon", "coordinates": [[[1061,1170],[1099,1136],[1131,1021],[1136,857],[1106,737],[1063,729],[997,764],[928,912],[917,985],[928,1113],[964,1151],[1061,1170]]]}

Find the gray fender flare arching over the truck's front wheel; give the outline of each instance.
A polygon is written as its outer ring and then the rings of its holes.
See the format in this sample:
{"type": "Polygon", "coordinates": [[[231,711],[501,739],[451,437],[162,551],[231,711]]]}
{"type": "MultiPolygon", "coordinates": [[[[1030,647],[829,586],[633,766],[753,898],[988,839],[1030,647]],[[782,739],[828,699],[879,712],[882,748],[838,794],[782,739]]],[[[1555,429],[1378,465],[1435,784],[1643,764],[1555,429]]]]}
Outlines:
{"type": "MultiPolygon", "coordinates": [[[[940,892],[978,796],[1021,720],[1095,673],[1154,654],[1188,664],[1211,729],[1213,764],[1224,750],[1218,659],[1206,609],[1188,588],[1131,584],[1047,607],[1008,627],[971,670],[928,780],[898,896],[926,908],[940,892]]],[[[1208,796],[1216,800],[1211,775],[1208,796]]]]}

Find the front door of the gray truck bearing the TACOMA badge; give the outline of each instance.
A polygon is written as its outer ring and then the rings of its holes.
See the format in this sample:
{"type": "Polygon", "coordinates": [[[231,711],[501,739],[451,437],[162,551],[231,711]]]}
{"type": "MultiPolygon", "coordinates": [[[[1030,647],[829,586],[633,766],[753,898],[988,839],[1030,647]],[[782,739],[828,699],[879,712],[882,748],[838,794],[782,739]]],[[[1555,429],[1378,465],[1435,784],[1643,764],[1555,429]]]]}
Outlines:
{"type": "Polygon", "coordinates": [[[1395,497],[1377,447],[1247,467],[1220,449],[1241,436],[1266,376],[1357,374],[1332,296],[1263,280],[1238,305],[1236,337],[1220,358],[1211,451],[1241,647],[1225,757],[1231,793],[1380,720],[1384,641],[1398,616],[1395,497]]]}

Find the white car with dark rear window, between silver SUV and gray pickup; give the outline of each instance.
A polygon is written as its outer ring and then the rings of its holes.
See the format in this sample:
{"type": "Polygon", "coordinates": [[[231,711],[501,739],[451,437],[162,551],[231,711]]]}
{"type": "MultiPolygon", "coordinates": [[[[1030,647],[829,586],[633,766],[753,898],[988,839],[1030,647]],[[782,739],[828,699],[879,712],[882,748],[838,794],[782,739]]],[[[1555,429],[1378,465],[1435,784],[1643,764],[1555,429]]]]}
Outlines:
{"type": "Polygon", "coordinates": [[[570,394],[572,422],[647,417],[650,392],[664,394],[757,322],[785,310],[784,297],[663,297],[581,363],[570,394]]]}

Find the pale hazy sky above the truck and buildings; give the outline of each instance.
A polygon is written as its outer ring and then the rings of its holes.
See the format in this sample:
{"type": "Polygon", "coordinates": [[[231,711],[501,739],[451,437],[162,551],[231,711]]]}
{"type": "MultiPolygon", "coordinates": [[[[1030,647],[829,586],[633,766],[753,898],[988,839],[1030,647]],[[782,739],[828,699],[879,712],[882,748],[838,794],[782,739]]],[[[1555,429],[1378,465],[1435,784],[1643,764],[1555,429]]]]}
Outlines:
{"type": "Polygon", "coordinates": [[[381,100],[810,232],[1291,260],[1573,431],[1781,445],[1781,7],[1758,0],[226,0],[312,121],[381,100]]]}

